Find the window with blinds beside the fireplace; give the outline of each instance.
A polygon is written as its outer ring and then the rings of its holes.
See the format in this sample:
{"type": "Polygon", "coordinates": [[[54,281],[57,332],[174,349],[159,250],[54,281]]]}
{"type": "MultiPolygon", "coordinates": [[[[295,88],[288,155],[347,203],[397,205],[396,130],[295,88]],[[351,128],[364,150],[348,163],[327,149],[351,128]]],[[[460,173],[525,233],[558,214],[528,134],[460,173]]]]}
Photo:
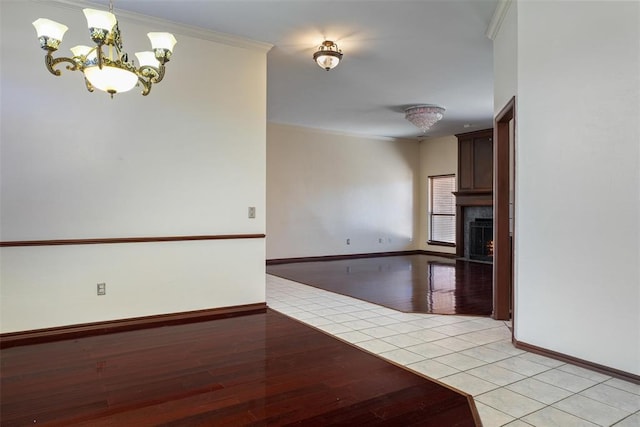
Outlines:
{"type": "Polygon", "coordinates": [[[455,175],[429,177],[429,243],[456,244],[455,175]]]}

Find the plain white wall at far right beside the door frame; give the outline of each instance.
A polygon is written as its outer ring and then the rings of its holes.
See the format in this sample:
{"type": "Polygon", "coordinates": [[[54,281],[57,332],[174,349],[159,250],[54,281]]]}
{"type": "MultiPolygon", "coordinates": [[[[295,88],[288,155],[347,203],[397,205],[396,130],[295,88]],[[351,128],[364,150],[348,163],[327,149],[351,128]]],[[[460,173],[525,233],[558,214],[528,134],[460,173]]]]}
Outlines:
{"type": "Polygon", "coordinates": [[[639,7],[520,2],[516,22],[516,338],[636,375],[639,7]]]}

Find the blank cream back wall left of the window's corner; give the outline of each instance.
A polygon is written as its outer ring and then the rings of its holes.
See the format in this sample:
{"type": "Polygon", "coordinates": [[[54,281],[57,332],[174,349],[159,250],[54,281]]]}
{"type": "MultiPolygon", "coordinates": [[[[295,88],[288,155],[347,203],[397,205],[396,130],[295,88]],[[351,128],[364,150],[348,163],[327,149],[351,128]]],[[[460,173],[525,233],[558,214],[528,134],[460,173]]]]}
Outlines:
{"type": "Polygon", "coordinates": [[[418,154],[416,141],[269,124],[267,259],[415,249],[418,154]]]}

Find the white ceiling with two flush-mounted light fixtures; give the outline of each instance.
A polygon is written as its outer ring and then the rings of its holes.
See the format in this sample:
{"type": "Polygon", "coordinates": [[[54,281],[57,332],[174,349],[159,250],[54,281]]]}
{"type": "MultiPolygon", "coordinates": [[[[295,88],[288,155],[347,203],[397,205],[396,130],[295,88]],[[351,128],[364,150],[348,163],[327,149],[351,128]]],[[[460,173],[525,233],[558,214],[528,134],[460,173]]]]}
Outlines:
{"type": "Polygon", "coordinates": [[[416,104],[447,110],[427,136],[492,126],[493,56],[485,32],[497,3],[115,0],[114,6],[116,14],[126,10],[273,44],[269,122],[415,138],[422,132],[403,110],[416,104]],[[344,54],[331,71],[312,59],[325,39],[344,54]]]}

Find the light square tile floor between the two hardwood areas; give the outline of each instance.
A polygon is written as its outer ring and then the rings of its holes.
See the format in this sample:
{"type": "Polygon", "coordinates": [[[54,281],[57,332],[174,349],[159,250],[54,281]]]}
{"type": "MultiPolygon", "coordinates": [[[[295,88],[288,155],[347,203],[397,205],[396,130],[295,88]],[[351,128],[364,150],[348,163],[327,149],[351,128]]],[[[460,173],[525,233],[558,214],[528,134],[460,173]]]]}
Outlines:
{"type": "Polygon", "coordinates": [[[484,427],[640,426],[640,385],[516,349],[502,321],[402,313],[271,275],[267,304],[473,395],[484,427]]]}

